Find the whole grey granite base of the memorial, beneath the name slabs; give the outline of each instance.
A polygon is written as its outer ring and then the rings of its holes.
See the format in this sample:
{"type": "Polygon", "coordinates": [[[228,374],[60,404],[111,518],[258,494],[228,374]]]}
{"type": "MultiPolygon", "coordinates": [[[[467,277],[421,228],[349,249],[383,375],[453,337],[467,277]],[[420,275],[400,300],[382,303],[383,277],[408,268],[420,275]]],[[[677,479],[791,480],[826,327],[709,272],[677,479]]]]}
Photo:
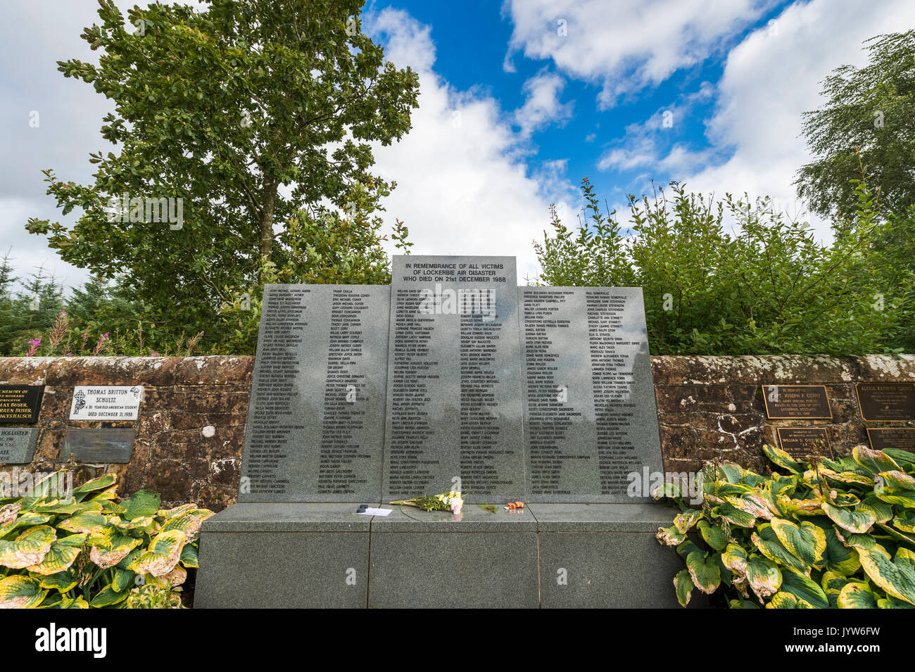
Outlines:
{"type": "MultiPolygon", "coordinates": [[[[370,505],[375,506],[375,505],[370,505]]],[[[531,504],[496,513],[236,504],[205,521],[197,608],[677,607],[683,562],[659,504],[531,504]]]]}

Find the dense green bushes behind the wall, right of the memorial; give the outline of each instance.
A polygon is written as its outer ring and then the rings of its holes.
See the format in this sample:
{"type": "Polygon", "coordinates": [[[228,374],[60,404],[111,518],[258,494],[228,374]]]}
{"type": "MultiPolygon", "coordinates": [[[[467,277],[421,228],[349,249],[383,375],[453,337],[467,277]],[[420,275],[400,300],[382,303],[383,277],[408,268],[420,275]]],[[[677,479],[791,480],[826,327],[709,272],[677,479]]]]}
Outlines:
{"type": "MultiPolygon", "coordinates": [[[[589,187],[586,178],[593,212],[589,187]]],[[[871,252],[883,224],[863,187],[854,226],[833,246],[775,211],[770,199],[716,201],[676,183],[670,191],[630,196],[628,228],[605,221],[572,231],[554,216],[553,235],[544,232],[534,246],[540,282],[642,287],[654,355],[848,355],[899,347],[894,334],[907,326],[905,314],[897,304],[884,309],[875,295],[901,301],[899,284],[910,275],[891,281],[881,274],[884,259],[871,252]]]]}

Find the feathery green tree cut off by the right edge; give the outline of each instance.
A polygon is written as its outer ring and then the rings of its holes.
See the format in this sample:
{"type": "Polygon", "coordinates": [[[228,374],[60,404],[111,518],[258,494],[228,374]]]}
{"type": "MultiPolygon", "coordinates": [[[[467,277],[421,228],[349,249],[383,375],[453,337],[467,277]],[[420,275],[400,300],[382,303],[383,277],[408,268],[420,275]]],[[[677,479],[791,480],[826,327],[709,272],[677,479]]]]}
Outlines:
{"type": "Polygon", "coordinates": [[[915,30],[865,44],[867,65],[834,69],[823,82],[823,107],[804,112],[803,134],[817,158],[795,186],[813,212],[835,221],[855,217],[852,179],[867,177],[889,211],[915,204],[915,30]]]}

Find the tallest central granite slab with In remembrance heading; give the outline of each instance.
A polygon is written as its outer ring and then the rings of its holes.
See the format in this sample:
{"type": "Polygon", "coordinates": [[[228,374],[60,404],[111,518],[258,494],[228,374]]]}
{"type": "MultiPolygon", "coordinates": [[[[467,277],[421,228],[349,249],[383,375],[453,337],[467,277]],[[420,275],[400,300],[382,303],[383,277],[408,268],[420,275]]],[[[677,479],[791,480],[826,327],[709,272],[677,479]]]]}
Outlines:
{"type": "Polygon", "coordinates": [[[394,256],[383,498],[525,489],[514,257],[394,256]]]}

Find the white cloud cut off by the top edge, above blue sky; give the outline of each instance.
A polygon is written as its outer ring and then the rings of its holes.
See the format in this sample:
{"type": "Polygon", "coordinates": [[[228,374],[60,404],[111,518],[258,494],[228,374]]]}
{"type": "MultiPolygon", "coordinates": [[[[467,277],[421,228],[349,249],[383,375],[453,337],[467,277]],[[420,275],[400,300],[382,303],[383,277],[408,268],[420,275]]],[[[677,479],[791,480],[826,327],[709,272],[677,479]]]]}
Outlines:
{"type": "MultiPolygon", "coordinates": [[[[552,59],[599,84],[598,101],[666,80],[699,63],[755,22],[774,0],[505,0],[511,53],[552,59]]],[[[508,68],[506,68],[508,69],[508,68]]]]}

